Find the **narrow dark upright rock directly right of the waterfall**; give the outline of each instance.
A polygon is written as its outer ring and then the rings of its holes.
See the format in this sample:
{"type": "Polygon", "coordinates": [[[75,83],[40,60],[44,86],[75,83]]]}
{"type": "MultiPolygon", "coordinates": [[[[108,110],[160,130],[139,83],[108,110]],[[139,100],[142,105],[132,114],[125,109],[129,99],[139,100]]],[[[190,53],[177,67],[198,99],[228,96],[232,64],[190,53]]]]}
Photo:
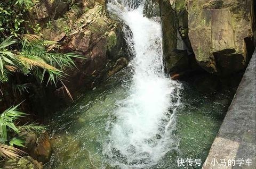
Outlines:
{"type": "Polygon", "coordinates": [[[180,4],[177,5],[177,10],[180,11],[175,11],[175,3],[175,1],[172,1],[172,4],[169,1],[159,1],[163,29],[163,56],[168,73],[190,69],[191,49],[187,35],[187,13],[185,5],[180,4]]]}

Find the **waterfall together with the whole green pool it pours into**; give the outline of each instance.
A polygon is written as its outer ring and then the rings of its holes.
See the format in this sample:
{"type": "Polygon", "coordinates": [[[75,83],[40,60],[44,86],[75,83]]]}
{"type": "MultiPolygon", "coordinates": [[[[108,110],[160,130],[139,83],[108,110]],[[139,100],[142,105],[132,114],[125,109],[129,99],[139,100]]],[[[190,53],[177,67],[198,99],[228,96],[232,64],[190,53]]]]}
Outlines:
{"type": "Polygon", "coordinates": [[[54,153],[46,168],[178,168],[178,158],[203,163],[230,92],[203,95],[166,76],[161,23],[143,17],[143,1],[110,0],[107,7],[129,26],[126,41],[135,57],[51,117],[54,153]]]}

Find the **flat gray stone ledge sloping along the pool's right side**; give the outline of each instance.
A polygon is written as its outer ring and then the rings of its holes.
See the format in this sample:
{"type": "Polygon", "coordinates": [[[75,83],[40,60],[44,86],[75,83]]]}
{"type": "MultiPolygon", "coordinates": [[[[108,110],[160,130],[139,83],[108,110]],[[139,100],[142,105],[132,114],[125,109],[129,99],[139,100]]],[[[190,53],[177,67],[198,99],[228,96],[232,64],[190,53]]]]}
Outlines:
{"type": "MultiPolygon", "coordinates": [[[[251,58],[203,168],[255,168],[255,56],[251,58]],[[223,166],[211,161],[252,159],[252,165],[223,166]]],[[[244,162],[245,163],[245,162],[244,162]]]]}

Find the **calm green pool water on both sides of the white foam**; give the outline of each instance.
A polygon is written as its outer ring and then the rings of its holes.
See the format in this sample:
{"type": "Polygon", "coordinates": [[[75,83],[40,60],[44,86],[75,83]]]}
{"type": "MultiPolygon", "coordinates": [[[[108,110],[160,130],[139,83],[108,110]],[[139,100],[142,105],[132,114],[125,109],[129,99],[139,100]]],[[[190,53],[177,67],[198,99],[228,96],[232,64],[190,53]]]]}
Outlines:
{"type": "MultiPolygon", "coordinates": [[[[109,122],[116,118],[116,100],[129,95],[131,75],[126,72],[129,69],[95,90],[85,91],[73,105],[51,116],[48,123],[54,152],[45,168],[118,168],[109,164],[103,151],[109,137],[109,122]]],[[[182,83],[182,104],[172,131],[177,141],[156,165],[146,168],[179,168],[178,158],[199,158],[203,165],[218,133],[232,94],[223,91],[205,95],[189,83],[182,83]]]]}

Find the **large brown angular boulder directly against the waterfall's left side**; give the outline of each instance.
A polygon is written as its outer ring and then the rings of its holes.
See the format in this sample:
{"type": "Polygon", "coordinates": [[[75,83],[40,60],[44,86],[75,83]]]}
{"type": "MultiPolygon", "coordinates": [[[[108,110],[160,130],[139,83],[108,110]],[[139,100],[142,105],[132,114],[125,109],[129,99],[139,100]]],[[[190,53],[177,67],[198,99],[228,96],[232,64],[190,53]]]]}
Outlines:
{"type": "MultiPolygon", "coordinates": [[[[114,65],[120,57],[128,57],[122,26],[106,14],[105,1],[84,3],[90,7],[81,10],[83,13],[72,21],[73,24],[65,18],[70,25],[70,34],[61,40],[65,41],[66,48],[86,58],[76,59],[78,69],[67,70],[69,76],[65,85],[71,94],[81,87],[93,88],[108,77],[108,72],[112,69],[110,63],[114,65]],[[74,81],[76,81],[75,85],[74,81]]],[[[63,95],[63,92],[59,91],[61,90],[54,93],[63,95]]]]}

